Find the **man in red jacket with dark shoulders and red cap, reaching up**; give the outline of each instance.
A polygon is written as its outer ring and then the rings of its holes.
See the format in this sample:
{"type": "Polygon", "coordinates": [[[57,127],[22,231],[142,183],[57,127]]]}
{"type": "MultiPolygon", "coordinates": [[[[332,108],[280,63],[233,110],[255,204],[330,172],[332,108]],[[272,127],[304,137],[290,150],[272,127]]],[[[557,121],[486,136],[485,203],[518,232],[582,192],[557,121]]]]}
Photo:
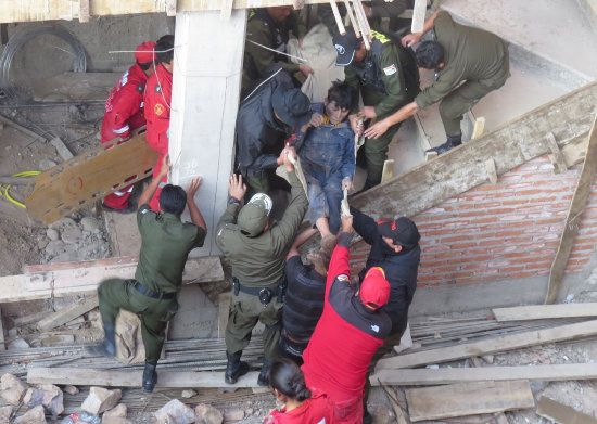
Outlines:
{"type": "Polygon", "coordinates": [[[334,409],[334,423],[360,424],[367,368],[392,329],[381,308],[390,297],[383,269],[371,268],[360,287],[351,286],[348,247],[353,217],[342,217],[342,233],[333,250],[323,313],[303,352],[307,386],[321,390],[334,409]]]}

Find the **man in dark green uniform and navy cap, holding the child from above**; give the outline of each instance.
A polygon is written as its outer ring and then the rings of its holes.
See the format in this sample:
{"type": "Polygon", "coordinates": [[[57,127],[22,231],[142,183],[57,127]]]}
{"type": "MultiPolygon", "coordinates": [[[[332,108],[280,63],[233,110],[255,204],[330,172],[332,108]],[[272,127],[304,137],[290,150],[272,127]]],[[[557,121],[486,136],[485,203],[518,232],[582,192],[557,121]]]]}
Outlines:
{"type": "MultiPolygon", "coordinates": [[[[344,36],[336,35],[332,40],[338,51],[335,64],[346,66],[346,82],[357,92],[360,90],[363,95],[365,107],[358,111],[358,102],[354,102],[350,115],[351,126],[357,134],[363,133],[357,112],[366,119],[382,119],[411,102],[419,92],[419,73],[410,53],[388,36],[377,31],[372,34],[370,51],[350,28],[346,28],[344,36]]],[[[380,183],[388,145],[398,128],[399,125],[395,125],[383,137],[370,138],[365,142],[367,180],[363,190],[380,183]]]]}

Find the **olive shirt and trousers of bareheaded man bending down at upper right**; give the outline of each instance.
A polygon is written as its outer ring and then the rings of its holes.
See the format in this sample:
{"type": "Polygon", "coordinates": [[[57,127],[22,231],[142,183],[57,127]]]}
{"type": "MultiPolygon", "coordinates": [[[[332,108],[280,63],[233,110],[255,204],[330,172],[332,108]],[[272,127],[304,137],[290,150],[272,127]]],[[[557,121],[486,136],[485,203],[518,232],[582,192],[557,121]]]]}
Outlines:
{"type": "Polygon", "coordinates": [[[462,114],[483,95],[504,86],[510,76],[508,46],[495,34],[455,23],[445,11],[437,14],[433,27],[444,48],[444,67],[415,102],[423,108],[441,100],[446,134],[460,136],[462,114]]]}

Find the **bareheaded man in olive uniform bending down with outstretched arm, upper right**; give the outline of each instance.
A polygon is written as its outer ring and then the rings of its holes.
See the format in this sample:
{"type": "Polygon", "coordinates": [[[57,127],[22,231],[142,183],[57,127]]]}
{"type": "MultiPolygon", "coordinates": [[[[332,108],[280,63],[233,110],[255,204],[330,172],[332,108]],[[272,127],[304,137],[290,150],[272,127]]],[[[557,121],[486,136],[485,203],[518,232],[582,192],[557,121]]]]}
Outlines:
{"type": "Polygon", "coordinates": [[[425,41],[418,47],[417,64],[424,69],[435,69],[435,82],[421,91],[414,102],[370,127],[365,134],[380,137],[421,108],[441,101],[440,116],[447,141],[431,151],[442,154],[462,143],[462,114],[483,95],[504,86],[510,76],[510,60],[508,46],[495,34],[459,25],[441,9],[427,20],[422,33],[405,36],[403,44],[419,42],[430,29],[435,30],[436,41],[425,41]]]}

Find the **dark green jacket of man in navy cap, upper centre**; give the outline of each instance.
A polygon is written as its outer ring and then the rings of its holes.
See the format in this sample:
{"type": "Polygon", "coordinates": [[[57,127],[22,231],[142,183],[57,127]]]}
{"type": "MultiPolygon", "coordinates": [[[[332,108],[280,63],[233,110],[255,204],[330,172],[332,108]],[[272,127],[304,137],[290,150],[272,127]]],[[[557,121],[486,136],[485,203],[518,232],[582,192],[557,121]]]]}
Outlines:
{"type": "MultiPolygon", "coordinates": [[[[353,62],[344,68],[345,80],[355,90],[360,90],[363,102],[366,106],[374,106],[378,119],[393,114],[405,104],[412,101],[418,93],[418,87],[406,90],[404,78],[404,66],[409,60],[402,46],[394,44],[388,37],[381,33],[373,31],[373,44],[367,52],[367,57],[363,62],[353,62]],[[381,50],[379,57],[374,51],[381,50]],[[357,72],[357,67],[374,67],[377,78],[381,80],[385,92],[376,90],[370,85],[364,85],[357,72]]],[[[358,69],[357,69],[358,70],[358,69]]],[[[355,103],[351,113],[356,113],[358,105],[355,103]]]]}

